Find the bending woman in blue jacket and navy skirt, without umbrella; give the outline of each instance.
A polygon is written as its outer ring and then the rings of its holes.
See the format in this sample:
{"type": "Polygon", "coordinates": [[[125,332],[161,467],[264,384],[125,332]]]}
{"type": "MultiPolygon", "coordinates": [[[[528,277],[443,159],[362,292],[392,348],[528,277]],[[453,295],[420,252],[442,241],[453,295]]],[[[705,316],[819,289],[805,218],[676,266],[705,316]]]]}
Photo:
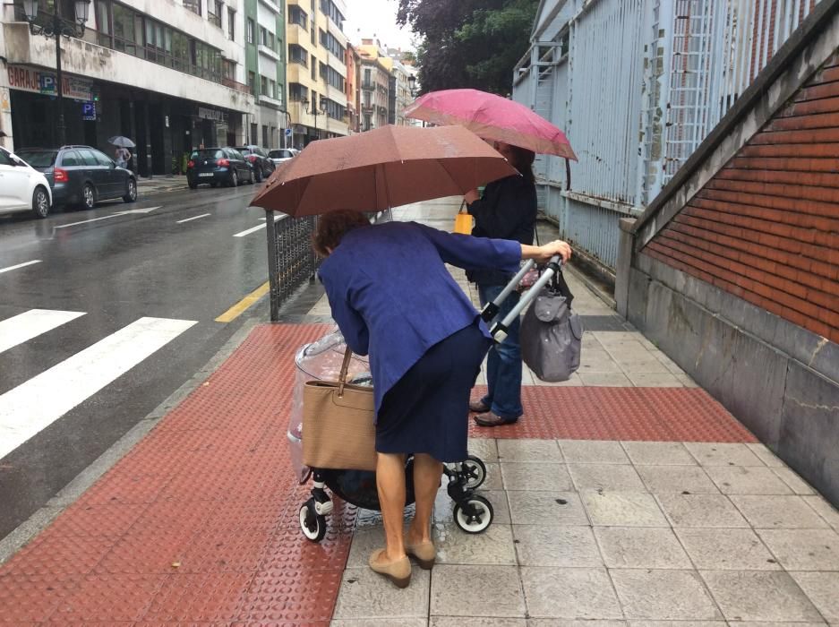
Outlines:
{"type": "Polygon", "coordinates": [[[370,567],[399,587],[413,555],[431,568],[431,515],[442,462],[467,458],[469,392],[491,336],[446,263],[517,271],[522,259],[567,259],[544,246],[451,235],[415,222],[370,226],[364,214],[321,216],[313,238],[320,277],[347,346],[370,355],[376,408],[376,484],[385,548],[370,567]],[[403,538],[405,460],[414,454],[416,514],[403,538]]]}

